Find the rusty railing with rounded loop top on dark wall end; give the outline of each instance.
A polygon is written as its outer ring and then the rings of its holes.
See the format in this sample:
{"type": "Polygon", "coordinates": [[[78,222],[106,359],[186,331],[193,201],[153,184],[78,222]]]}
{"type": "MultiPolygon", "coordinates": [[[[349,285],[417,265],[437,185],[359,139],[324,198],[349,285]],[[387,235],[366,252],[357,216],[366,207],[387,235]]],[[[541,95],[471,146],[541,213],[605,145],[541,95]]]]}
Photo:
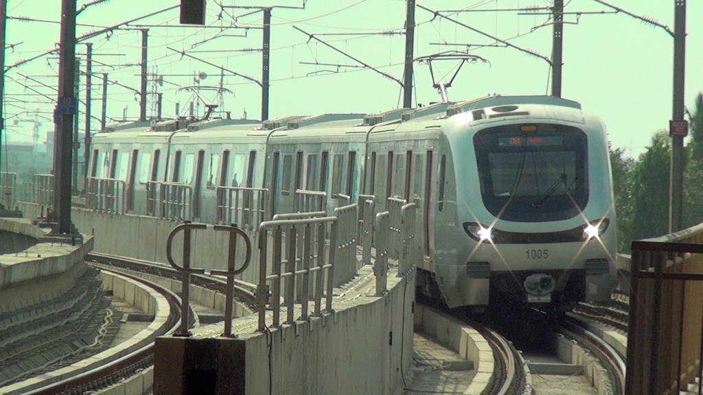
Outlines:
{"type": "Polygon", "coordinates": [[[186,222],[173,228],[169,237],[166,240],[166,258],[169,264],[175,268],[177,271],[181,272],[181,326],[179,330],[174,332],[174,336],[190,336],[191,332],[188,331],[188,315],[190,314],[190,289],[191,289],[191,274],[202,274],[205,273],[204,268],[193,268],[191,267],[191,240],[192,232],[195,230],[206,230],[210,228],[214,231],[224,231],[229,233],[229,247],[228,247],[228,259],[226,270],[211,270],[210,273],[217,276],[226,276],[227,287],[226,287],[226,299],[225,299],[225,311],[224,311],[224,332],[222,336],[224,337],[236,337],[232,333],[232,318],[233,318],[233,304],[234,304],[234,276],[245,271],[249,262],[252,258],[252,244],[244,231],[236,226],[226,226],[226,225],[207,225],[207,224],[191,224],[186,222]],[[183,266],[179,266],[173,259],[173,240],[177,233],[183,232],[183,266]],[[237,236],[244,239],[244,244],[246,248],[246,257],[243,264],[239,268],[235,268],[235,259],[237,256],[237,236]]]}

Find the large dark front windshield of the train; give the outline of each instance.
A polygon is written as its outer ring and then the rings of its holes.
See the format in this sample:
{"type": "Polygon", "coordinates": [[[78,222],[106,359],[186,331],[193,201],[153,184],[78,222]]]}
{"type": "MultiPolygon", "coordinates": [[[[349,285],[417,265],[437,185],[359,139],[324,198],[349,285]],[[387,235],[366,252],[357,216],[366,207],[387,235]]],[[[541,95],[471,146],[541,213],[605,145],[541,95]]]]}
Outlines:
{"type": "Polygon", "coordinates": [[[557,124],[490,127],[474,136],[486,209],[506,221],[559,221],[588,202],[586,134],[557,124]]]}

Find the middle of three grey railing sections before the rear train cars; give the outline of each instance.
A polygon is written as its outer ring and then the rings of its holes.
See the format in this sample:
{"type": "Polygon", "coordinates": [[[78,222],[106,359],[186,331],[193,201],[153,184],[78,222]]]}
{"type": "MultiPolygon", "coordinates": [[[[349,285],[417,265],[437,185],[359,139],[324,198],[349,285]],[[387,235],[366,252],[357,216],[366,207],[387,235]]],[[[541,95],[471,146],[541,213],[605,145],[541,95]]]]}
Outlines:
{"type": "Polygon", "coordinates": [[[150,215],[189,221],[193,218],[193,187],[186,183],[148,181],[146,207],[150,215]]]}

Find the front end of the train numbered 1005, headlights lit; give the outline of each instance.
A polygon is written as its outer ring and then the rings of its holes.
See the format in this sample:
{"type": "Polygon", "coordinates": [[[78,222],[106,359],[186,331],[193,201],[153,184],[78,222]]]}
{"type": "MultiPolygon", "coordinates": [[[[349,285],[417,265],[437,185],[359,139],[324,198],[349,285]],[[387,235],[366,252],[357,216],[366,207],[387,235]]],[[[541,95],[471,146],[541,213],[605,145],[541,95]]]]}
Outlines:
{"type": "Polygon", "coordinates": [[[550,96],[496,96],[453,112],[434,213],[447,304],[483,306],[491,294],[569,311],[608,299],[616,218],[602,123],[550,96]]]}

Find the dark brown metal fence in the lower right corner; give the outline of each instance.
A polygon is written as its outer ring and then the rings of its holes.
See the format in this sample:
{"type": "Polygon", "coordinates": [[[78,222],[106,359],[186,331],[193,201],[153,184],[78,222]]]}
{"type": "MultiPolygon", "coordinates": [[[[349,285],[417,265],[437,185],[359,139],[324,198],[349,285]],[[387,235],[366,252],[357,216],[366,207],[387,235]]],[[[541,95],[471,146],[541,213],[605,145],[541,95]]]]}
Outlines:
{"type": "Polygon", "coordinates": [[[703,224],[632,242],[626,394],[702,393],[702,254],[703,224]]]}

